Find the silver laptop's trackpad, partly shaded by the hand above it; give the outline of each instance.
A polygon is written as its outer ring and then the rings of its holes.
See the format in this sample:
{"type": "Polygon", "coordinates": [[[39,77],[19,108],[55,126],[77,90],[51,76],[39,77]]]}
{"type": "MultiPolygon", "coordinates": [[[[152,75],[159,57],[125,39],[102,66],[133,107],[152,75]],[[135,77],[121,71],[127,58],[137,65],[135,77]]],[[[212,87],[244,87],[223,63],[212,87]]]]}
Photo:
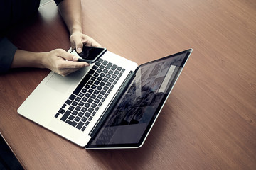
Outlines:
{"type": "Polygon", "coordinates": [[[71,85],[77,84],[81,77],[82,72],[80,72],[80,70],[73,72],[72,74],[68,74],[66,77],[62,77],[60,74],[54,73],[46,82],[46,86],[49,86],[50,88],[61,93],[65,93],[71,85]]]}

